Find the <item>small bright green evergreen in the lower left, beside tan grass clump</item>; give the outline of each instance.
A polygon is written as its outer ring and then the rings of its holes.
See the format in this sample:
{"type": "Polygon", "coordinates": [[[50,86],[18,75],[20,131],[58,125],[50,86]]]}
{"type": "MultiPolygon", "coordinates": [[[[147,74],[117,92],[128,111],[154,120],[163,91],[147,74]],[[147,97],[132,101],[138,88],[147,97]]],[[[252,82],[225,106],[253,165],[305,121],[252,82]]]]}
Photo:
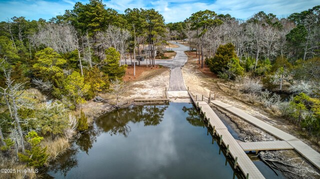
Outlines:
{"type": "Polygon", "coordinates": [[[18,153],[20,161],[27,163],[27,166],[30,167],[42,167],[48,158],[46,147],[40,147],[43,137],[39,137],[34,131],[29,132],[25,137],[31,146],[31,150],[25,150],[26,154],[18,153]]]}

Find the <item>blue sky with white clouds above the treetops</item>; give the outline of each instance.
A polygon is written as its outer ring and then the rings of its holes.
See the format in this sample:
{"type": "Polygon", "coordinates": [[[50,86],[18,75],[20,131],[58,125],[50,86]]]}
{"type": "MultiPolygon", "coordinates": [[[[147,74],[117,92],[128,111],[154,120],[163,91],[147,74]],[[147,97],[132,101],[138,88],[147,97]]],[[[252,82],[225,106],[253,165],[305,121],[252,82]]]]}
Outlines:
{"type": "MultiPolygon", "coordinates": [[[[13,16],[25,16],[29,20],[39,18],[48,20],[63,14],[65,9],[72,9],[76,1],[88,2],[88,0],[0,0],[0,21],[13,16]]],[[[277,17],[285,17],[293,12],[320,5],[319,0],[103,0],[103,3],[119,13],[123,13],[126,8],[154,8],[163,15],[166,23],[182,21],[191,13],[205,9],[247,19],[261,10],[276,14],[277,17]]]]}

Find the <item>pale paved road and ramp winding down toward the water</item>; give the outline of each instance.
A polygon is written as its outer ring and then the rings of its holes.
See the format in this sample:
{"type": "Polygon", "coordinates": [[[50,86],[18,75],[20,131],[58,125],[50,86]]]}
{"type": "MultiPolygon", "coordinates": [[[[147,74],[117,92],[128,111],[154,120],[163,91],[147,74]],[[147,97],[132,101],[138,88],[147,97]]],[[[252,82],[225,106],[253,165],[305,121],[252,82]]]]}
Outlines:
{"type": "Polygon", "coordinates": [[[180,43],[175,44],[179,46],[177,48],[172,48],[172,50],[176,52],[175,57],[171,60],[155,60],[155,64],[169,67],[171,70],[168,91],[186,91],[182,78],[181,67],[188,59],[184,51],[187,51],[189,47],[180,43]]]}

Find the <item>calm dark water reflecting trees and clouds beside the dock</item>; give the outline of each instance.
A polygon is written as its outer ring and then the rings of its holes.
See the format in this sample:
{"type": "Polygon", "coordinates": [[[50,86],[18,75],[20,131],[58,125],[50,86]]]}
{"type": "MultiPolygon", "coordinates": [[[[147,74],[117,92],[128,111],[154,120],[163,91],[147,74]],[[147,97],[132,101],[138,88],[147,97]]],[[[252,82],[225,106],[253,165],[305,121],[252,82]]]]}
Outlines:
{"type": "MultiPolygon", "coordinates": [[[[131,106],[108,113],[47,172],[68,179],[232,179],[193,106],[131,106]]],[[[47,176],[47,177],[49,177],[47,176]]]]}

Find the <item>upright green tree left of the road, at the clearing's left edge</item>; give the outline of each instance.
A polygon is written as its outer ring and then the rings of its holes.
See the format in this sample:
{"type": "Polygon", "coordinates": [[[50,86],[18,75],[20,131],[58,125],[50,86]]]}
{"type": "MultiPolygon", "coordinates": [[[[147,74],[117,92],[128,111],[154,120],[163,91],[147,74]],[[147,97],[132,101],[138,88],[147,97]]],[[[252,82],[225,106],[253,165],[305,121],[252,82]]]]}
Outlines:
{"type": "Polygon", "coordinates": [[[109,76],[110,80],[121,79],[126,70],[126,65],[119,66],[120,53],[115,50],[115,48],[110,47],[105,50],[105,63],[101,67],[101,71],[106,73],[109,76]]]}

